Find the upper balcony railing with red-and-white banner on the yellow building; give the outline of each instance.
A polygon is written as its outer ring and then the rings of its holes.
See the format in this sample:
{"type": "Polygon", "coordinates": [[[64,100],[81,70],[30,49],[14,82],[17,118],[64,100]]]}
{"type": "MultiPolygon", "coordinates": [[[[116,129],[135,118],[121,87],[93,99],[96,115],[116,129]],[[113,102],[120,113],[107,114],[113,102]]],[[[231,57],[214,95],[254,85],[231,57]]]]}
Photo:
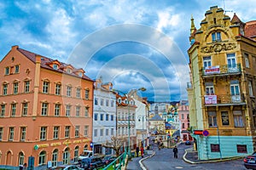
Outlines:
{"type": "Polygon", "coordinates": [[[215,65],[202,68],[203,76],[241,73],[241,64],[215,65]]]}

